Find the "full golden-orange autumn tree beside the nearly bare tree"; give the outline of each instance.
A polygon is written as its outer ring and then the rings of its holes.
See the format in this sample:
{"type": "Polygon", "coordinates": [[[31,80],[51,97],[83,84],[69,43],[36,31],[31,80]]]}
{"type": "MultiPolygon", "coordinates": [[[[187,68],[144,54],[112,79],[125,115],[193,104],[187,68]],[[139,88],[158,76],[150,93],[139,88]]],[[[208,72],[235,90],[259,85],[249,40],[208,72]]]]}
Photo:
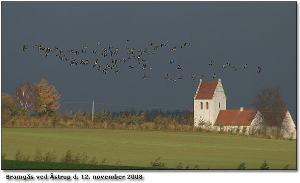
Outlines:
{"type": "Polygon", "coordinates": [[[41,79],[34,86],[36,88],[34,102],[36,114],[51,114],[60,107],[60,95],[54,85],[47,83],[46,79],[41,79]]]}

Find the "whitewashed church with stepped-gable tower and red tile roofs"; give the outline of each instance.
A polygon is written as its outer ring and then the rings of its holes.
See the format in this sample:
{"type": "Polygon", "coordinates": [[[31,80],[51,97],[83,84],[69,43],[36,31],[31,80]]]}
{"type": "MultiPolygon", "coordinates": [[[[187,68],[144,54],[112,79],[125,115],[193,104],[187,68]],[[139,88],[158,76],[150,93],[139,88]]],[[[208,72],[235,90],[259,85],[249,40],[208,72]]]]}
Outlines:
{"type": "MultiPolygon", "coordinates": [[[[296,126],[289,110],[285,110],[283,126],[280,131],[284,138],[296,138],[296,126]]],[[[261,115],[258,110],[226,110],[226,95],[221,83],[221,79],[215,82],[203,82],[200,79],[196,94],[194,96],[194,126],[199,126],[199,121],[205,120],[211,123],[211,128],[219,129],[222,125],[224,130],[243,129],[246,133],[251,130],[261,128],[261,115]]],[[[261,128],[262,129],[262,128],[261,128]]],[[[272,133],[275,127],[268,131],[272,133]]]]}

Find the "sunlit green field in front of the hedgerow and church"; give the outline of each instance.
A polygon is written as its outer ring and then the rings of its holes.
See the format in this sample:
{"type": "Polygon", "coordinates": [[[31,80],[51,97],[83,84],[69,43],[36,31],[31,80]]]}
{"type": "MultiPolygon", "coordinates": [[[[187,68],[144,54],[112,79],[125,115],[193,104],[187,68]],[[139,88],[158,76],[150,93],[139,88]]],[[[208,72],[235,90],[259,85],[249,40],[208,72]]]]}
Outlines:
{"type": "Polygon", "coordinates": [[[247,169],[259,169],[266,159],[270,169],[296,169],[296,141],[273,140],[237,135],[101,129],[2,128],[1,150],[5,159],[14,159],[21,148],[33,155],[55,150],[60,158],[67,150],[83,151],[106,164],[147,167],[161,157],[166,167],[199,165],[200,169],[237,169],[240,161],[247,169]]]}

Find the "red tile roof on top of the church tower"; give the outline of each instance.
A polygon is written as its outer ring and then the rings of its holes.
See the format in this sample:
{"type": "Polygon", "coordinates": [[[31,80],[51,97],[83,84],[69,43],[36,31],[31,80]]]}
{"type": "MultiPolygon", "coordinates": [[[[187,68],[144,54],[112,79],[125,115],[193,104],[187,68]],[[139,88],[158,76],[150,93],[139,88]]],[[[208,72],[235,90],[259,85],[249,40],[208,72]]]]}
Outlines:
{"type": "Polygon", "coordinates": [[[201,82],[196,99],[212,99],[218,82],[201,82]]]}

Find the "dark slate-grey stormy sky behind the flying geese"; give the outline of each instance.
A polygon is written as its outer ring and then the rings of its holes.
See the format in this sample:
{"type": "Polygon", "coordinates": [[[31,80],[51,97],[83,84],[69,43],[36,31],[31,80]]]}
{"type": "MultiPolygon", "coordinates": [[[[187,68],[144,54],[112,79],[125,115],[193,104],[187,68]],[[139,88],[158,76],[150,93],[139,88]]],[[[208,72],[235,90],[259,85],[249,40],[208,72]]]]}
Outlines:
{"type": "MultiPolygon", "coordinates": [[[[91,113],[151,107],[173,110],[193,108],[199,79],[222,79],[227,109],[249,108],[261,88],[280,86],[296,122],[296,6],[297,2],[1,2],[1,91],[14,93],[22,82],[45,78],[61,95],[61,111],[69,108],[91,113]],[[131,42],[126,42],[130,39],[131,42]],[[100,41],[101,46],[96,43],[100,41]],[[150,42],[167,47],[152,55],[150,42]],[[180,49],[180,45],[190,45],[180,49]],[[23,44],[28,50],[23,52],[23,44]],[[87,66],[61,61],[58,51],[36,51],[32,45],[59,47],[87,66]],[[119,48],[118,55],[103,57],[103,48],[119,48]],[[70,50],[86,54],[76,56],[70,50]],[[176,51],[169,49],[176,46],[176,51]],[[118,74],[105,75],[92,67],[98,58],[103,66],[111,59],[127,58],[124,47],[148,49],[147,68],[137,60],[118,63],[118,74]],[[97,54],[92,50],[98,50],[97,54]],[[169,60],[175,62],[170,65],[169,60]],[[208,66],[212,61],[213,66],[208,66]],[[229,62],[226,69],[221,65],[229,62]],[[249,69],[242,67],[248,64],[249,69]],[[177,70],[180,64],[182,70],[177,70]],[[133,65],[134,69],[127,66],[133,65]],[[232,66],[237,66],[234,71],[232,66]],[[258,74],[257,67],[262,67],[258,74]],[[142,79],[143,74],[147,79],[142,79]],[[173,79],[166,80],[166,74],[173,79]],[[190,76],[196,79],[193,81],[190,76]],[[62,103],[75,102],[75,103],[62,103]],[[86,104],[90,103],[90,104],[86,104]],[[100,104],[101,103],[101,104],[100,104]],[[113,104],[113,105],[104,105],[113,104]],[[158,105],[160,104],[160,105],[158,105]],[[148,106],[137,107],[137,106],[148,106]]],[[[71,59],[70,59],[71,60],[71,59]]]]}

